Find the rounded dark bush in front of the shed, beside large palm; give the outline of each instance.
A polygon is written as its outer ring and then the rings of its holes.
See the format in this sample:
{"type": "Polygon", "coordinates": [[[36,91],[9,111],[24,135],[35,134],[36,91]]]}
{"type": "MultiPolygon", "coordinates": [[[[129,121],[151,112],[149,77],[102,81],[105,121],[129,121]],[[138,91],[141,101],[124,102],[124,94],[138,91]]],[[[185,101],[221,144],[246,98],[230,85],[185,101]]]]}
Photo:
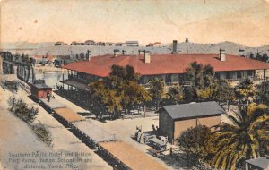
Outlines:
{"type": "Polygon", "coordinates": [[[213,133],[204,125],[188,128],[180,134],[176,141],[179,149],[187,153],[187,165],[189,155],[203,160],[205,157],[213,155],[213,133]]]}

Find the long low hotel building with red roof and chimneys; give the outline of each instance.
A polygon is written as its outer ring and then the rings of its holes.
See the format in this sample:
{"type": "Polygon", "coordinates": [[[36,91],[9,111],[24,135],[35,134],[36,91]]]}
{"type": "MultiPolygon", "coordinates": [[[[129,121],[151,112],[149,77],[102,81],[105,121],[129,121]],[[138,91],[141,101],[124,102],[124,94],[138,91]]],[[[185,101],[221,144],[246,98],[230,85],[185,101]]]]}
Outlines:
{"type": "Polygon", "coordinates": [[[219,54],[150,54],[139,51],[137,55],[120,54],[116,50],[114,54],[94,56],[90,61],[67,64],[63,68],[72,71],[79,82],[90,82],[108,77],[113,64],[130,65],[141,75],[142,84],[157,76],[169,85],[183,81],[187,67],[193,62],[212,65],[216,77],[220,79],[234,81],[269,77],[268,63],[225,54],[224,50],[220,50],[219,54]]]}

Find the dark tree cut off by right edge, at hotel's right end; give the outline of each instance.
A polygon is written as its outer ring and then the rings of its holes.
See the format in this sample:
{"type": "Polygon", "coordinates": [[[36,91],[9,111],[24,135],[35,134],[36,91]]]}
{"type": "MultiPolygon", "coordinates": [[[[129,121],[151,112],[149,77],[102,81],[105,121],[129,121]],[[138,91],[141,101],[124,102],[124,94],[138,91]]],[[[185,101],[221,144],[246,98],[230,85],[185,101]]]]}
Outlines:
{"type": "Polygon", "coordinates": [[[269,81],[264,81],[256,86],[257,96],[262,103],[269,106],[269,81]]]}

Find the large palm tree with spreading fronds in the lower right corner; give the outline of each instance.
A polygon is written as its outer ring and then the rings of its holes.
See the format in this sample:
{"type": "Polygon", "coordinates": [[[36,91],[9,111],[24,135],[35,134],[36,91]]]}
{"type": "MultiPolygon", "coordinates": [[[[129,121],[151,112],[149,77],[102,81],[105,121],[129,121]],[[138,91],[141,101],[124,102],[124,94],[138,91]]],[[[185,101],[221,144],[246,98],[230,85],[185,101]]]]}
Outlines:
{"type": "Polygon", "coordinates": [[[216,132],[216,154],[210,160],[211,164],[234,170],[243,160],[261,157],[268,152],[267,106],[251,103],[240,108],[240,113],[227,116],[231,123],[223,123],[220,132],[216,132]]]}

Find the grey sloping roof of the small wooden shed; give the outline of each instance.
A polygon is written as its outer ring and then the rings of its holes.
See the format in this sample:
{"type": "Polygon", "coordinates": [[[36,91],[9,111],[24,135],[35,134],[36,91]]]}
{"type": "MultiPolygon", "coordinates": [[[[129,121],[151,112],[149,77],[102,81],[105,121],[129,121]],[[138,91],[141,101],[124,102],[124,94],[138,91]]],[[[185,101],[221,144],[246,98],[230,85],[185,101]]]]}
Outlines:
{"type": "Polygon", "coordinates": [[[210,115],[221,115],[224,109],[215,101],[163,106],[172,119],[187,119],[210,115]]]}

